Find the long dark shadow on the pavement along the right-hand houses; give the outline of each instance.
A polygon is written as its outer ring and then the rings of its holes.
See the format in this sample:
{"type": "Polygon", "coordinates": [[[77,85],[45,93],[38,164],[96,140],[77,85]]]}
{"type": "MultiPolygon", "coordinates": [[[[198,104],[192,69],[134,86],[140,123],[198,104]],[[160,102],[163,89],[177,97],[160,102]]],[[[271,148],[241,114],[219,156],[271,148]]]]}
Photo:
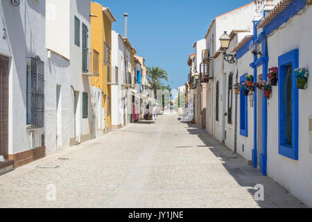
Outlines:
{"type": "Polygon", "coordinates": [[[264,200],[254,200],[259,207],[276,208],[276,207],[305,207],[300,200],[281,187],[277,182],[263,176],[258,169],[254,169],[248,165],[246,160],[238,154],[235,154],[222,143],[218,142],[214,137],[211,137],[205,129],[198,128],[196,124],[187,123],[188,132],[191,135],[197,135],[206,146],[198,146],[202,148],[209,148],[216,157],[223,160],[223,167],[227,169],[228,173],[241,186],[245,187],[254,198],[256,189],[254,187],[258,184],[264,187],[264,200]]]}

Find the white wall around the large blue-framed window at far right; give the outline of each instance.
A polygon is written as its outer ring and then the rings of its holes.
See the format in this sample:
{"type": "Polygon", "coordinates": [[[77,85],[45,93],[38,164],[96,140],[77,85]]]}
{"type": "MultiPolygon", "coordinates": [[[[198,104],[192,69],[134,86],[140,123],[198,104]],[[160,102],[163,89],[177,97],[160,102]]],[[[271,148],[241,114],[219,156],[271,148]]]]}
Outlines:
{"type": "MultiPolygon", "coordinates": [[[[268,37],[268,67],[278,67],[278,57],[299,49],[299,67],[309,69],[308,88],[299,89],[299,160],[278,153],[278,87],[272,89],[268,100],[268,176],[292,194],[312,206],[312,154],[309,152],[308,117],[312,115],[312,7],[306,7],[268,37]]],[[[294,86],[295,87],[295,86],[294,86]]],[[[311,137],[311,135],[310,135],[311,137]]]]}

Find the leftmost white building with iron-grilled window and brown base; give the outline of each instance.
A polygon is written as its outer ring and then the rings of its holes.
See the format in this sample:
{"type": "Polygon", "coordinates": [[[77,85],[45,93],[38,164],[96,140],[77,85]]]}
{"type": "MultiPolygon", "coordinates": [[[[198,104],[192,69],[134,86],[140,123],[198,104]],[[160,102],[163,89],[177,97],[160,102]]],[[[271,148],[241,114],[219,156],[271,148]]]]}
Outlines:
{"type": "Polygon", "coordinates": [[[0,2],[0,173],[45,155],[45,7],[45,1],[0,2]]]}

